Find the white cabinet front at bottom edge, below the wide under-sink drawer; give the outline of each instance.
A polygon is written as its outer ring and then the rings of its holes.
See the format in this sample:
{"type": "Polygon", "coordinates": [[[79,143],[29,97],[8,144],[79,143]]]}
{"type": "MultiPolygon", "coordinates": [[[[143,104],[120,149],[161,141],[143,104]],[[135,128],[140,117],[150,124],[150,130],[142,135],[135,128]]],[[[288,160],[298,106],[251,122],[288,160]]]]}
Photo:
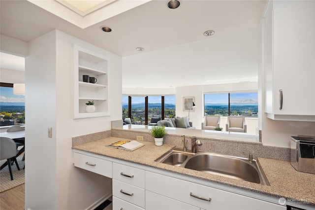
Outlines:
{"type": "Polygon", "coordinates": [[[200,210],[200,208],[146,190],[146,210],[200,210]]]}

